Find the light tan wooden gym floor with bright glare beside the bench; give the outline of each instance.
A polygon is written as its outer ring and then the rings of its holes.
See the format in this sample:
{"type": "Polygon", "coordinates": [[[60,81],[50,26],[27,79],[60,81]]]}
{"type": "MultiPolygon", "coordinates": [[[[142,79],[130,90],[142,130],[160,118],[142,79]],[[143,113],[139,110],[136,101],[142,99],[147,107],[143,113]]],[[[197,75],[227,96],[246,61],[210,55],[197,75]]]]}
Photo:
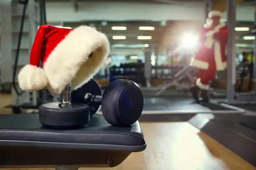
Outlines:
{"type": "MultiPolygon", "coordinates": [[[[11,113],[10,109],[3,108],[10,102],[10,95],[0,95],[1,113],[11,113]]],[[[140,124],[147,143],[146,150],[131,154],[121,165],[112,168],[113,170],[256,170],[188,122],[141,122],[140,124]]],[[[102,168],[102,170],[107,169],[109,168],[102,168]]],[[[8,170],[25,170],[25,168],[8,170]]],[[[39,170],[39,168],[26,168],[26,170],[39,170]]]]}

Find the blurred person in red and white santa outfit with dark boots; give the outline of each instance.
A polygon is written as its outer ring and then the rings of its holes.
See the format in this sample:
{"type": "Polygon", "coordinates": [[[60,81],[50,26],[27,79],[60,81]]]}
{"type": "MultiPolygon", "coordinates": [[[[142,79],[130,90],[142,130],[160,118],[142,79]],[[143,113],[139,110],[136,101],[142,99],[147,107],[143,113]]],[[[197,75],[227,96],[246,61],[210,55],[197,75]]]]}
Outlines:
{"type": "Polygon", "coordinates": [[[200,47],[192,58],[190,65],[199,70],[198,78],[190,90],[198,102],[201,91],[202,101],[208,102],[207,91],[209,82],[215,77],[215,72],[227,67],[226,46],[228,29],[225,23],[220,23],[222,13],[211,11],[207,23],[199,32],[200,47]]]}

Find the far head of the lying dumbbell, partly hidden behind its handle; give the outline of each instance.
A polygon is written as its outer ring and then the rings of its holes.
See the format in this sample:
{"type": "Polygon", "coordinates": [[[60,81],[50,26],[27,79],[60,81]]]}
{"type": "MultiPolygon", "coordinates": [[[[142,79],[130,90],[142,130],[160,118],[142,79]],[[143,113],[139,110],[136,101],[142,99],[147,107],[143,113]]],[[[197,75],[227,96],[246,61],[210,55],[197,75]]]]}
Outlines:
{"type": "MultiPolygon", "coordinates": [[[[91,93],[92,95],[102,95],[100,85],[95,80],[91,79],[89,82],[82,85],[82,87],[79,89],[73,90],[71,92],[71,102],[87,104],[84,101],[84,95],[87,93],[91,93]]],[[[89,106],[91,108],[90,116],[92,116],[99,110],[100,104],[89,104],[89,106]]]]}

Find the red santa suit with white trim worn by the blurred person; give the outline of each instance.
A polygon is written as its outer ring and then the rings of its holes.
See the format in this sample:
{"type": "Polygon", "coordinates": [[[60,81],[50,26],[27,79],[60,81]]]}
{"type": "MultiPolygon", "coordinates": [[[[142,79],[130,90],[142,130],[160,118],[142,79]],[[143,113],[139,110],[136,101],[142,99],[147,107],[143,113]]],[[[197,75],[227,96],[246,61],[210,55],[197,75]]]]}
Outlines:
{"type": "Polygon", "coordinates": [[[190,65],[199,69],[196,85],[202,90],[209,89],[209,82],[215,72],[227,67],[226,45],[228,29],[220,23],[214,29],[204,26],[199,32],[200,47],[190,65]]]}

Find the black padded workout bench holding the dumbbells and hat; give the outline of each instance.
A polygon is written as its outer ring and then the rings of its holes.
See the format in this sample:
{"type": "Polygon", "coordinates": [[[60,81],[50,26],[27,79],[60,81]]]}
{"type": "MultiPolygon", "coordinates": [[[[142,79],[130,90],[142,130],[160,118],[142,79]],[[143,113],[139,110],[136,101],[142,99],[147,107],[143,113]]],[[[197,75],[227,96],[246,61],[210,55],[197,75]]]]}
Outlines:
{"type": "Polygon", "coordinates": [[[42,127],[38,114],[0,115],[0,166],[69,163],[102,167],[111,159],[111,167],[145,148],[138,121],[129,128],[118,128],[95,115],[85,128],[52,130],[42,127]]]}

